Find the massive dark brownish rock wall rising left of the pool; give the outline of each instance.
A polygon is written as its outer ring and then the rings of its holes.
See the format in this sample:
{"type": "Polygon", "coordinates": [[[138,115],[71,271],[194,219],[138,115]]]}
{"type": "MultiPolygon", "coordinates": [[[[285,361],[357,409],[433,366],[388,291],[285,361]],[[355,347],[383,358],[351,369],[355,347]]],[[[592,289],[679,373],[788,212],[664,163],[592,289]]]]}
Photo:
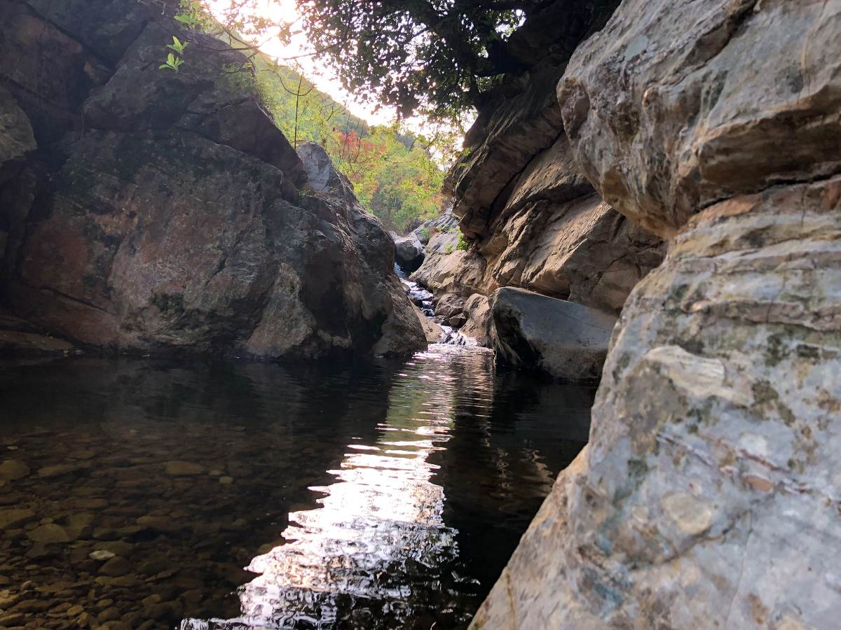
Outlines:
{"type": "Polygon", "coordinates": [[[7,307],[120,351],[421,348],[378,221],[325,155],[302,162],[245,56],[168,4],[0,0],[7,307]],[[159,69],[173,34],[177,72],[159,69]]]}

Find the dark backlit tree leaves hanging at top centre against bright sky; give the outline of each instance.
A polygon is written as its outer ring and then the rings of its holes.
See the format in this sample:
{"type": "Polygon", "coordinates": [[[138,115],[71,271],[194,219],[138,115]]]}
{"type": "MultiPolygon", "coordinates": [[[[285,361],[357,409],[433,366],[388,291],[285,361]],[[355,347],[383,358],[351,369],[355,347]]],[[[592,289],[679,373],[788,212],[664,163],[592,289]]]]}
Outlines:
{"type": "Polygon", "coordinates": [[[478,107],[519,66],[507,39],[545,3],[505,0],[308,0],[301,27],[347,89],[410,116],[478,107]]]}

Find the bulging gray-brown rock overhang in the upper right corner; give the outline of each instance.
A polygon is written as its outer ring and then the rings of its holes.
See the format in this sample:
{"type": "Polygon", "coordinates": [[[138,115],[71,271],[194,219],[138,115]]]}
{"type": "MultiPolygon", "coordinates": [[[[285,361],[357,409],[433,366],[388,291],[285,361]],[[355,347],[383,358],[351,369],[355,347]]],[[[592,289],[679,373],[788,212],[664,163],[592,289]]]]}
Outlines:
{"type": "Polygon", "coordinates": [[[584,174],[671,236],[721,199],[837,172],[837,4],[626,0],[558,84],[584,174]]]}

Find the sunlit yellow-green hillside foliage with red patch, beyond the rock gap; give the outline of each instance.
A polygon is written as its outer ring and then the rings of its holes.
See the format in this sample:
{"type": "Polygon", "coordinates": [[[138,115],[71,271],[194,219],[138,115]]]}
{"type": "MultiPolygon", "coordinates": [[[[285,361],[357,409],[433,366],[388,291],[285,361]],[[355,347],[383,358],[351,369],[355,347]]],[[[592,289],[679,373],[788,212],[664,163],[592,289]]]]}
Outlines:
{"type": "MultiPolygon", "coordinates": [[[[190,29],[214,34],[241,50],[246,55],[244,63],[225,67],[226,79],[235,81],[238,88],[255,92],[295,146],[303,142],[324,146],[336,167],[352,181],[360,202],[386,228],[402,233],[436,217],[444,202],[444,171],[439,163],[442,151],[436,147],[452,149],[453,138],[446,136],[454,136],[455,131],[439,131],[436,139],[426,139],[406,132],[400,123],[370,128],[316,89],[300,68],[283,66],[262,54],[253,38],[267,33],[272,24],[266,18],[256,20],[243,13],[253,3],[255,0],[231,0],[220,21],[202,0],[181,0],[174,17],[190,29]]],[[[273,28],[280,27],[275,24],[273,28]]],[[[283,29],[288,28],[288,24],[283,25],[283,29]]],[[[168,46],[179,55],[177,66],[187,45],[173,36],[173,44],[168,46]]],[[[168,62],[164,66],[178,70],[168,62]]]]}

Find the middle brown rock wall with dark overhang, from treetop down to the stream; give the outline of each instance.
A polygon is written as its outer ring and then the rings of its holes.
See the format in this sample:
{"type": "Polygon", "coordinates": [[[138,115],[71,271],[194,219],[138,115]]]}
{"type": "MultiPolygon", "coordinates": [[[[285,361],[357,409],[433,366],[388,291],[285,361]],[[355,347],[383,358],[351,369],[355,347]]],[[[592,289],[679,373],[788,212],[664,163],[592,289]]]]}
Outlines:
{"type": "Polygon", "coordinates": [[[454,230],[434,234],[412,276],[435,294],[436,313],[500,354],[508,344],[494,343],[488,302],[500,287],[616,314],[663,260],[662,240],[602,200],[563,134],[558,80],[575,45],[615,6],[590,13],[553,3],[517,33],[532,43],[523,54],[530,66],[506,76],[447,179],[463,240],[454,230]]]}

